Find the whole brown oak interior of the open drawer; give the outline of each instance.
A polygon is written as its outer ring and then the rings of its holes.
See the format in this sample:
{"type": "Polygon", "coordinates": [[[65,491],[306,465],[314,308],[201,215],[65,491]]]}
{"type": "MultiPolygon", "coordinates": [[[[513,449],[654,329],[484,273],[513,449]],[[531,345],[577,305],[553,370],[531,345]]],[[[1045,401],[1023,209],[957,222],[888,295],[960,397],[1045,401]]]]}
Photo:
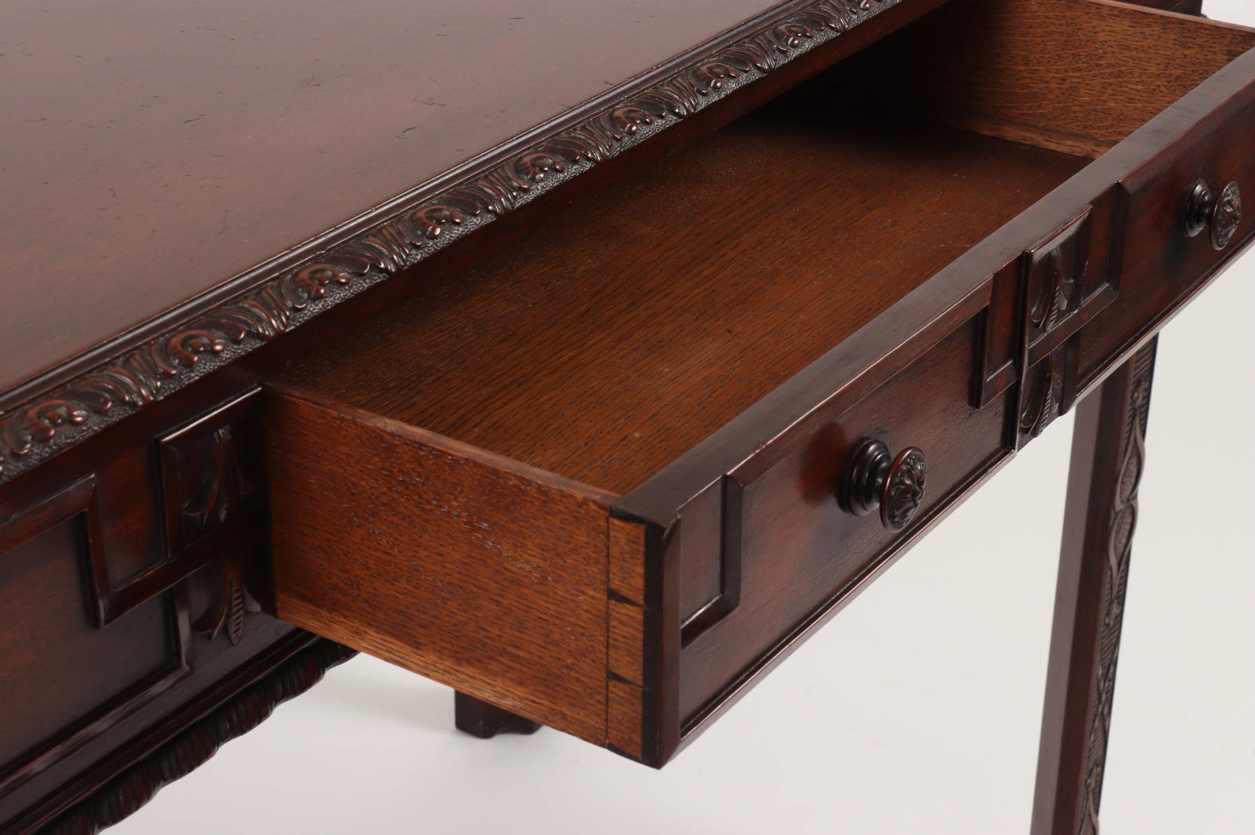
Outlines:
{"type": "Polygon", "coordinates": [[[625,493],[1251,45],[1094,3],[951,6],[286,379],[625,493]]]}

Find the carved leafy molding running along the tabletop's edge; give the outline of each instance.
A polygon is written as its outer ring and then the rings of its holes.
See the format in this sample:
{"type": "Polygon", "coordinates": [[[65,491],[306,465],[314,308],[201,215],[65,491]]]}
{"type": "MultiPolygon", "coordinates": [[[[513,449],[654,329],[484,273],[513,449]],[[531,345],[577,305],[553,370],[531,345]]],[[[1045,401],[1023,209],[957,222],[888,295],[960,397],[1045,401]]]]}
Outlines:
{"type": "Polygon", "coordinates": [[[0,481],[409,267],[902,0],[818,0],[0,416],[0,481]]]}

